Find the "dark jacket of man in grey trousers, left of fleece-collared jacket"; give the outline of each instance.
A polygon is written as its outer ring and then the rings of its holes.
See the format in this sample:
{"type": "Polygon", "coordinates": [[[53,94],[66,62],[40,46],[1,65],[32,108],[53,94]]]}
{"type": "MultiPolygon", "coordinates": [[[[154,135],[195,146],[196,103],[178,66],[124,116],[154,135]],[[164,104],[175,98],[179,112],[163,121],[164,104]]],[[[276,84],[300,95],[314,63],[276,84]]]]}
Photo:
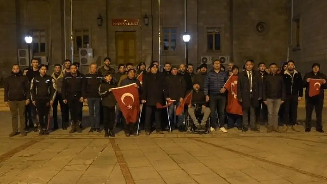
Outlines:
{"type": "Polygon", "coordinates": [[[280,74],[269,74],[264,80],[263,86],[263,98],[264,101],[267,99],[285,99],[285,84],[283,76],[280,74]]]}

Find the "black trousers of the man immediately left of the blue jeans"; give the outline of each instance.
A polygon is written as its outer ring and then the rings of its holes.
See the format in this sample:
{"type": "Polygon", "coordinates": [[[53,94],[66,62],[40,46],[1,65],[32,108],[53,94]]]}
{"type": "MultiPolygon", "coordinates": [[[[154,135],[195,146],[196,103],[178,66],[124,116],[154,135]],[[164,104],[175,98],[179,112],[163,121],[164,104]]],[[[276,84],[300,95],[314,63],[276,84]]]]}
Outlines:
{"type": "Polygon", "coordinates": [[[70,119],[73,123],[82,121],[83,102],[80,102],[80,96],[69,96],[67,97],[68,108],[70,111],[70,119]]]}

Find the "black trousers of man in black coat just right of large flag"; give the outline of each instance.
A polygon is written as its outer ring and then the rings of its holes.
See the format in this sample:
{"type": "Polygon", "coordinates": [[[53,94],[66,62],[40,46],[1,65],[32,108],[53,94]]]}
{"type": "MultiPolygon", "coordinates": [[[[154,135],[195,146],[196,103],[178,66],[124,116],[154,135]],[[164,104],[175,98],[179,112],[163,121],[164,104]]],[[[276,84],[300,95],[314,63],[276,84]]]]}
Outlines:
{"type": "Polygon", "coordinates": [[[157,109],[156,106],[145,106],[144,129],[147,132],[151,132],[151,128],[152,128],[151,115],[152,115],[152,113],[154,114],[156,129],[161,130],[161,112],[162,112],[162,109],[157,109]]]}

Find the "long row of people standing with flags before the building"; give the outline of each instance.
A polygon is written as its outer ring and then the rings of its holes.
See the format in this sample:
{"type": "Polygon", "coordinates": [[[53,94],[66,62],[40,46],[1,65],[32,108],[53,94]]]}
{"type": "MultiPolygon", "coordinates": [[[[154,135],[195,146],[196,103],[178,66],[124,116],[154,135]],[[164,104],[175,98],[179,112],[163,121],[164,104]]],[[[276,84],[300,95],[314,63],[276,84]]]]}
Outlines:
{"type": "Polygon", "coordinates": [[[100,133],[103,125],[105,137],[114,137],[115,126],[122,124],[126,136],[137,135],[135,125],[138,122],[126,121],[112,92],[117,87],[128,85],[138,89],[140,103],[143,104],[139,116],[146,135],[150,135],[154,129],[163,134],[167,127],[184,131],[185,113],[196,129],[228,132],[228,129],[237,127],[246,132],[250,127],[250,130],[259,132],[259,117],[264,114],[267,115],[267,132],[287,132],[288,128],[299,132],[297,109],[303,88],[306,88],[305,131],[311,130],[311,115],[315,109],[316,130],[324,132],[321,114],[327,78],[319,72],[318,63],[312,65],[312,71],[306,73],[303,80],[292,60],[285,63],[281,70],[278,70],[276,63],[266,67],[263,62],[258,63],[258,70],[255,70],[254,61],[248,60],[242,71],[232,62],[225,69],[220,60],[215,60],[212,70],[207,72],[208,65],[201,64],[195,73],[192,64],[172,66],[166,62],[160,72],[157,61],[153,61],[148,68],[145,63],[140,63],[136,68],[132,63],[119,64],[117,71],[110,67],[110,63],[110,58],[105,58],[104,66],[100,68],[92,63],[90,73],[86,75],[78,71],[79,63],[72,63],[69,59],[63,65],[54,65],[52,75],[46,74],[48,66],[39,65],[37,59],[32,59],[32,67],[24,70],[14,64],[12,74],[5,83],[4,94],[5,103],[12,114],[12,132],[9,136],[18,135],[19,131],[26,136],[25,130],[31,128],[39,131],[39,135],[48,135],[51,107],[52,130],[58,129],[58,104],[62,129],[67,129],[71,124],[69,133],[82,132],[84,102],[89,107],[89,133],[100,133]],[[141,75],[142,79],[139,78],[141,75]],[[319,85],[315,82],[312,87],[311,82],[316,79],[321,82],[319,85]],[[318,93],[312,96],[310,88],[316,87],[318,93]],[[166,104],[166,108],[158,108],[158,104],[166,104]],[[184,108],[177,113],[176,109],[181,104],[184,108]],[[202,119],[198,119],[200,114],[203,115],[202,119]],[[210,126],[207,124],[209,117],[210,126]],[[278,128],[279,117],[284,124],[282,130],[278,128]]]}

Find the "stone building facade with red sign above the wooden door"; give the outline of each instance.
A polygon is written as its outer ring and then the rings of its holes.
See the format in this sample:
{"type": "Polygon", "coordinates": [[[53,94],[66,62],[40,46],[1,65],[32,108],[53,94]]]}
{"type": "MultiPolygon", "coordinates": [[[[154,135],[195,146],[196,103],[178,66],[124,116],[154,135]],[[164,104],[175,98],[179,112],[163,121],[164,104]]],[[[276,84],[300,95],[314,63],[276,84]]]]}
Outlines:
{"type": "MultiPolygon", "coordinates": [[[[62,63],[65,58],[79,61],[78,48],[87,46],[93,49],[89,62],[99,64],[107,56],[115,64],[149,63],[159,58],[161,63],[185,63],[184,0],[161,0],[160,16],[158,3],[0,0],[0,49],[4,53],[0,55],[1,75],[8,75],[12,63],[17,63],[18,49],[26,49],[26,34],[33,35],[33,55],[47,57],[50,65],[62,63]],[[102,25],[97,23],[99,15],[102,25]],[[132,25],[122,25],[124,20],[132,25]]],[[[191,35],[188,60],[194,65],[206,56],[212,61],[227,56],[239,66],[245,59],[253,59],[256,64],[287,59],[289,0],[187,0],[186,12],[186,29],[191,35]]]]}

